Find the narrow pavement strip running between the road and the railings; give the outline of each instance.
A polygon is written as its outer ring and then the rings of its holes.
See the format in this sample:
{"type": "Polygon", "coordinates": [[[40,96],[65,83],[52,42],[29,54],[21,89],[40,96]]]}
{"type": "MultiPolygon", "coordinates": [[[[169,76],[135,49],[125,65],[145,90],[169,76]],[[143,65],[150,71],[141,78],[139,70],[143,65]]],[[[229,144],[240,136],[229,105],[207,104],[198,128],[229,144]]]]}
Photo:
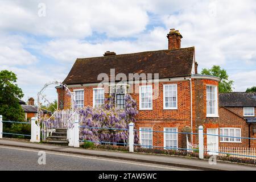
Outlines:
{"type": "MultiPolygon", "coordinates": [[[[104,158],[104,159],[115,159],[122,162],[133,162],[137,164],[150,164],[150,166],[169,166],[175,167],[171,169],[195,169],[195,170],[224,170],[224,171],[255,171],[256,166],[248,164],[238,164],[231,162],[222,162],[220,160],[216,161],[216,164],[209,164],[208,159],[197,159],[189,158],[183,156],[171,156],[171,155],[160,155],[160,154],[142,154],[137,152],[122,152],[122,151],[110,151],[110,150],[87,150],[84,148],[74,148],[68,146],[56,146],[52,144],[44,143],[31,143],[26,140],[17,140],[17,139],[0,139],[0,153],[5,147],[15,147],[27,150],[41,150],[47,152],[55,152],[55,154],[69,154],[73,157],[78,156],[87,156],[94,158],[104,158]]],[[[6,154],[6,153],[5,153],[6,154]]],[[[52,154],[53,155],[53,154],[52,154]]],[[[62,160],[62,159],[61,159],[62,160]]],[[[1,161],[2,163],[2,161],[1,161]]],[[[106,169],[106,168],[105,168],[106,169]]],[[[113,169],[113,168],[108,168],[113,169]]],[[[119,168],[119,169],[122,169],[119,168]]],[[[146,170],[147,168],[145,168],[146,170]]],[[[104,170],[104,169],[102,169],[104,170]]],[[[125,169],[124,169],[125,170],[125,169]]],[[[151,170],[154,170],[151,168],[151,170]]]]}

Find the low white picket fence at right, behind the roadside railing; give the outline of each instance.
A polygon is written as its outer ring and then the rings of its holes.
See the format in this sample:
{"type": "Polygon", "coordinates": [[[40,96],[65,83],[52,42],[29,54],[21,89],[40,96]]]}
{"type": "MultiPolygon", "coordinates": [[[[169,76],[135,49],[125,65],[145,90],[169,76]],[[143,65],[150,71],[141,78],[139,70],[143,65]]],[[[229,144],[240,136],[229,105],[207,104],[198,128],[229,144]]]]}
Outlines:
{"type": "MultiPolygon", "coordinates": [[[[188,141],[187,136],[187,148],[188,152],[196,152],[199,149],[199,144],[191,143],[188,141]],[[192,149],[192,150],[191,150],[192,149]]],[[[231,156],[236,158],[247,158],[256,159],[256,148],[246,148],[246,147],[218,147],[218,152],[224,152],[229,154],[215,153],[219,156],[231,156]]],[[[208,154],[207,146],[204,146],[204,154],[208,154]]]]}

